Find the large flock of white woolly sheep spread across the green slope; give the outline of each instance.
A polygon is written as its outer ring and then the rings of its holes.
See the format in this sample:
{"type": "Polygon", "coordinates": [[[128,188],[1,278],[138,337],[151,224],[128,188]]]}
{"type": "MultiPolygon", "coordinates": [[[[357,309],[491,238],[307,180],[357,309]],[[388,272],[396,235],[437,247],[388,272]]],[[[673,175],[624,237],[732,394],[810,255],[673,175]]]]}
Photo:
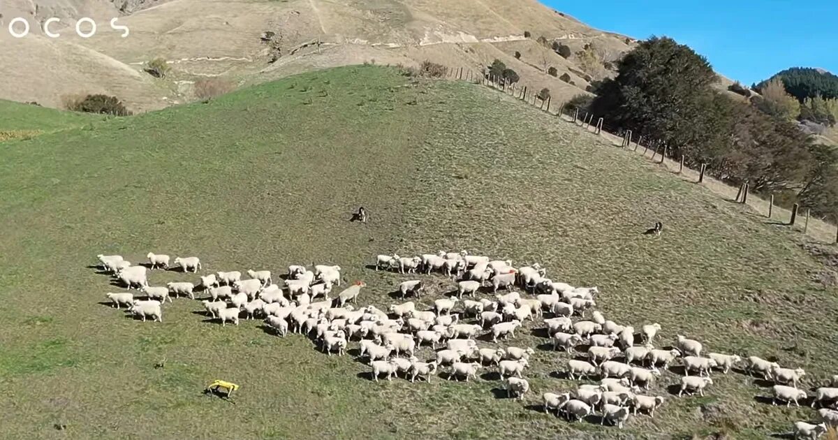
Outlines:
{"type": "MultiPolygon", "coordinates": [[[[149,253],[148,267],[168,268],[169,257],[149,253]]],[[[357,299],[364,282],[355,282],[334,298],[333,287],[341,284],[339,266],[318,265],[313,270],[291,266],[283,287],[274,284],[269,271],[247,271],[249,279],[241,279],[241,272],[216,272],[192,282],[169,282],[166,286],[151,287],[147,282],[147,267],[132,266],[122,256],[99,255],[101,267],[113,274],[129,290],[139,289],[146,299],[134,298],[131,292],[107,293],[116,308],[127,306],[127,311],[143,321],[163,320],[163,303],[172,296],[194,299],[196,289],[203,289],[211,300],[204,300],[204,308],[213,318],[239,324],[241,313],[247,318],[261,314],[267,326],[277,334],[289,332],[313,337],[328,355],[344,355],[350,341],[358,341],[359,356],[368,360],[373,380],[392,380],[402,375],[411,382],[431,380],[437,370],[445,369],[447,380],[466,380],[478,375],[478,370],[496,368],[507,396],[523,399],[530,391],[525,379],[532,348],[486,346],[475,339],[497,343],[498,339],[515,337],[515,330],[525,321],[535,323],[541,318],[553,349],[576,355],[566,362],[569,379],[597,376],[598,384],[579,385],[576,390],[559,393],[544,392],[545,412],[556,412],[567,420],[581,420],[592,414],[600,416],[600,423],[623,427],[629,415],[654,411],[665,403],[663,396],[649,396],[649,384],[660,377],[660,368],[668,368],[679,361],[684,368],[678,396],[698,393],[704,395],[713,385],[712,370],[727,374],[732,367],[742,364],[749,375],[761,375],[772,380],[773,404],[786,406],[806,399],[807,393],[798,388],[805,375],[802,369],[783,368],[757,356],[742,359],[738,355],[706,353],[701,342],[677,335],[673,348],[654,348],[660,324],[644,324],[639,335],[629,325],[620,325],[604,318],[594,310],[597,287],[573,287],[564,282],[553,282],[538,264],[512,267],[512,261],[491,260],[486,256],[469,255],[467,251],[401,257],[376,257],[375,270],[395,270],[401,274],[441,272],[452,282],[452,295],[436,298],[432,307],[423,310],[413,301],[393,304],[386,311],[369,305],[357,308],[357,299]],[[503,289],[503,293],[499,290],[503,289]],[[520,290],[519,290],[520,289],[520,290]],[[521,292],[522,291],[522,292],[521,292]],[[477,298],[480,292],[491,292],[491,298],[477,298]],[[355,307],[349,303],[354,303],[355,307]],[[585,318],[590,311],[591,317],[585,318]],[[456,313],[455,313],[456,312],[456,313]],[[549,316],[549,318],[547,317],[549,316]],[[578,316],[578,318],[577,318],[578,316]],[[635,344],[639,336],[640,344],[635,344]],[[416,350],[422,345],[436,350],[433,359],[422,361],[416,350]],[[577,347],[587,345],[587,349],[577,347]],[[437,350],[438,348],[438,350],[437,350]],[[583,358],[583,359],[578,359],[583,358]],[[622,358],[622,361],[617,359],[622,358]]],[[[183,272],[198,272],[197,257],[178,257],[173,260],[183,272]]],[[[396,286],[396,296],[422,298],[426,290],[422,280],[409,280],[396,286]]],[[[795,422],[795,437],[816,438],[827,426],[838,426],[838,375],[830,386],[817,388],[811,406],[821,407],[822,422],[795,422]]]]}

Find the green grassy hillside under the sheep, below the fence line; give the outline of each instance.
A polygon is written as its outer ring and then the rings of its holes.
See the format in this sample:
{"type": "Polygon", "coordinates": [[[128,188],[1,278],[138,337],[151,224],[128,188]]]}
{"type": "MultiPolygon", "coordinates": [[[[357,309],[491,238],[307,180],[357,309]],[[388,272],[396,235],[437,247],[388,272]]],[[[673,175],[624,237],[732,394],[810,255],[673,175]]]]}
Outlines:
{"type": "MultiPolygon", "coordinates": [[[[468,248],[597,284],[606,316],[636,328],[659,322],[660,344],[688,334],[708,350],[835,373],[825,365],[838,355],[838,301],[810,281],[819,267],[794,236],[498,100],[507,97],[350,67],[6,144],[0,437],[65,437],[52,428],[61,421],[75,438],[603,435],[598,424],[538,412],[541,392],[574,385],[551,376],[565,354],[536,351],[523,404],[495,399],[492,373],[468,384],[374,384],[350,357],[318,354],[258,322],[221,328],[198,302],[167,305],[163,324],[123,318],[98,303],[118,290],[86,267],[101,252],[198,255],[205,272],[334,261],[347,281],[368,282],[362,303],[383,307],[404,278],[366,269],[371,256],[468,248]],[[368,225],[346,221],[359,204],[368,225]],[[659,219],[664,236],[639,236],[659,219]],[[216,378],[242,385],[235,406],[199,395],[216,378]]],[[[429,279],[426,304],[448,288],[429,279]]],[[[508,344],[544,344],[531,328],[508,344]]],[[[663,410],[631,419],[626,432],[764,437],[813,417],[755,401],[768,391],[743,375],[718,378],[705,398],[677,398],[665,389],[677,376],[666,373],[653,391],[667,396],[663,410]]]]}

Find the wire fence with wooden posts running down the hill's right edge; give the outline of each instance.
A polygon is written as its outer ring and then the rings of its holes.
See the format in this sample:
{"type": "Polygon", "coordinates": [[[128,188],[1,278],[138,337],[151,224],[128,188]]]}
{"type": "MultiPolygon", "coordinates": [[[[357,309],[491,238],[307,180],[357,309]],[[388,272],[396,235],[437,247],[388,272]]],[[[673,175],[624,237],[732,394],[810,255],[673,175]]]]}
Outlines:
{"type": "Polygon", "coordinates": [[[639,152],[653,163],[659,163],[679,174],[683,179],[689,179],[696,184],[711,186],[711,189],[716,193],[732,194],[733,191],[736,191],[736,197],[731,196],[733,201],[753,207],[765,215],[766,218],[775,220],[773,221],[775,225],[789,225],[799,228],[799,223],[802,222],[801,231],[805,235],[828,243],[838,243],[838,227],[822,219],[810,221],[811,212],[809,209],[805,210],[804,219],[801,220],[799,217],[803,217],[803,213],[799,204],[793,204],[789,210],[783,209],[774,204],[773,194],[768,194],[769,199],[760,198],[756,194],[748,199],[748,194],[752,193],[747,182],[741,184],[737,189],[722,181],[710,179],[707,173],[709,163],[696,161],[694,164],[697,165],[697,169],[685,166],[685,162],[692,164],[689,158],[686,158],[684,154],[676,153],[658,139],[635,135],[631,130],[624,130],[621,127],[611,125],[603,117],[593,115],[566,102],[557,105],[552,102],[551,96],[541,96],[541,91],[536,91],[535,88],[530,89],[527,85],[520,85],[517,82],[512,83],[510,80],[499,75],[493,75],[485,70],[475,71],[465,67],[447,68],[446,76],[451,80],[466,80],[474,84],[485,85],[513,96],[517,100],[525,101],[530,106],[538,107],[541,111],[558,116],[563,121],[571,122],[587,132],[608,137],[615,146],[619,145],[619,148],[624,148],[633,153],[639,152]],[[651,156],[649,156],[649,153],[651,153],[651,156]],[[781,216],[788,220],[780,219],[781,216]],[[818,224],[815,225],[815,222],[818,224]]]}

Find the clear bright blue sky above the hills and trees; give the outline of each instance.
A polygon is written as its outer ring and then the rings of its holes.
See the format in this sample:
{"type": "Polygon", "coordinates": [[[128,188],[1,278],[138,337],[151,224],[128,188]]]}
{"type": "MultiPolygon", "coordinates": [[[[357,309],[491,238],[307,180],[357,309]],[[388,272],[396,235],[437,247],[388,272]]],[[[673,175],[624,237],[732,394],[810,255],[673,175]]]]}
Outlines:
{"type": "Polygon", "coordinates": [[[746,85],[796,66],[838,75],[838,0],[541,2],[594,28],[671,37],[746,85]]]}

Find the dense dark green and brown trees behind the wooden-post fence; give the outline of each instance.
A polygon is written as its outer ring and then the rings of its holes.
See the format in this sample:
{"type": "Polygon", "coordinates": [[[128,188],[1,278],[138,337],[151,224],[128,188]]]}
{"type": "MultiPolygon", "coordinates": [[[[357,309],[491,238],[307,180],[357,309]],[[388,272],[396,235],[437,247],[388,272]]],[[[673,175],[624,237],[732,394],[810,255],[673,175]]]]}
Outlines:
{"type": "Polygon", "coordinates": [[[709,163],[717,179],[747,182],[835,218],[838,153],[815,144],[789,118],[799,102],[780,81],[763,88],[776,89],[777,99],[763,96],[752,105],[715,91],[716,80],[688,46],[653,37],[619,61],[618,75],[597,85],[587,106],[613,126],[661,142],[675,157],[684,154],[692,166],[709,163]]]}

